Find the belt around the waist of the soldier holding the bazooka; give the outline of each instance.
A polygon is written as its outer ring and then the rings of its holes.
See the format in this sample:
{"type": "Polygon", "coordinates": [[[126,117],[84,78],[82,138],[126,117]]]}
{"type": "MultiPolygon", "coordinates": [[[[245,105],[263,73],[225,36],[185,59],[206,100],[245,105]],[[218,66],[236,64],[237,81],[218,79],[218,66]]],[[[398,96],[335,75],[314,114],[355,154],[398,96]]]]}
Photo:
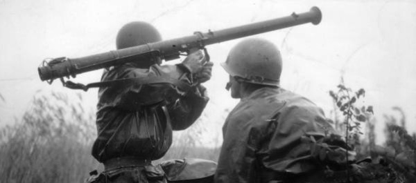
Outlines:
{"type": "Polygon", "coordinates": [[[143,160],[139,157],[116,157],[104,162],[104,171],[117,168],[143,167],[151,164],[151,160],[143,160]]]}

